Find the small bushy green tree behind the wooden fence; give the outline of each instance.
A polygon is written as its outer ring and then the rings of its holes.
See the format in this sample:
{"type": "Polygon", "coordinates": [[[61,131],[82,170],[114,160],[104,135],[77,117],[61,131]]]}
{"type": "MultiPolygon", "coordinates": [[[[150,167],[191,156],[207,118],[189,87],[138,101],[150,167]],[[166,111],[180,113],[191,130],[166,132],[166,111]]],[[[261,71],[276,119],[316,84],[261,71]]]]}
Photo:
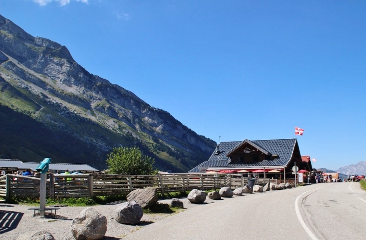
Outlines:
{"type": "Polygon", "coordinates": [[[154,159],[144,156],[138,147],[115,147],[107,156],[111,174],[157,175],[158,170],[152,167],[154,159]]]}

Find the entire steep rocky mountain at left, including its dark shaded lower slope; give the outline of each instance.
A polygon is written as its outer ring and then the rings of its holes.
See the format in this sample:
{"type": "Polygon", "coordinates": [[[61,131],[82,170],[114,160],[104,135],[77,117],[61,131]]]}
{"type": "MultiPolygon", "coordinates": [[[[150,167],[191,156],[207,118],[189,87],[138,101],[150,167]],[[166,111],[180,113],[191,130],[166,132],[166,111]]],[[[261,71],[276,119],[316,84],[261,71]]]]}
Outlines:
{"type": "Polygon", "coordinates": [[[93,75],[65,46],[0,15],[0,158],[105,169],[113,147],[137,145],[160,170],[186,172],[216,143],[132,92],[93,75]]]}

